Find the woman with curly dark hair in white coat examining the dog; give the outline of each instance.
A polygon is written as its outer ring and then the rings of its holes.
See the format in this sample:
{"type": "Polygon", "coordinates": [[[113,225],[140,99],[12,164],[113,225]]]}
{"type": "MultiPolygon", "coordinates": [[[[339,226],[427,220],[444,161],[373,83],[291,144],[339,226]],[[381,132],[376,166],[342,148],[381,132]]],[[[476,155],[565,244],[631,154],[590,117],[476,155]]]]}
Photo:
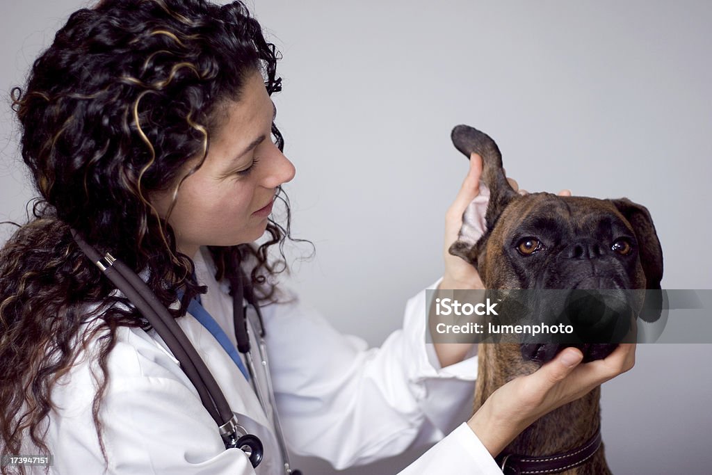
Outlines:
{"type": "MultiPolygon", "coordinates": [[[[284,263],[270,251],[291,239],[281,185],[295,173],[273,123],[276,59],[239,2],[105,0],[75,12],[34,63],[14,103],[41,199],[0,253],[3,455],[53,454],[58,474],[280,474],[290,467],[277,413],[290,449],[337,468],[451,429],[473,358],[467,345],[429,353],[424,293],[409,301],[403,330],[366,350],[276,286],[284,263]],[[270,217],[275,201],[284,225],[270,217]],[[139,271],[169,308],[245,432],[263,442],[256,469],[244,451],[225,449],[164,339],[73,232],[139,271]],[[263,306],[276,411],[251,387],[268,376],[245,377],[244,362],[197,317],[211,315],[235,345],[229,283],[240,269],[263,306]]],[[[478,194],[471,162],[445,249],[478,194]]],[[[481,286],[471,266],[445,259],[441,288],[481,286]]],[[[493,456],[516,434],[628,370],[634,347],[577,367],[581,359],[567,349],[502,387],[403,473],[497,473],[493,456]]]]}

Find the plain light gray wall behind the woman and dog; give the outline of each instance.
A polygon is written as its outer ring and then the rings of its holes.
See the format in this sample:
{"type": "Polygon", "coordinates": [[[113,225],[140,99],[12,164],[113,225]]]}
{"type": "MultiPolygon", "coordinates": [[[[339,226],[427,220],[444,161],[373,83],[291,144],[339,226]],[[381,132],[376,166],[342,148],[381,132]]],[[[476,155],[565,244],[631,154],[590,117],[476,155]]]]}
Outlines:
{"type": "MultiPolygon", "coordinates": [[[[2,0],[0,92],[24,74],[76,0],[2,0]]],[[[666,288],[712,288],[708,1],[276,1],[251,3],[283,52],[276,96],[294,235],[317,247],[291,285],[372,345],[442,271],[444,212],[467,169],[451,127],[474,125],[530,191],[629,197],[649,208],[666,288]]],[[[9,100],[0,108],[0,220],[32,196],[9,100]]],[[[0,227],[4,241],[10,226],[0,227]]],[[[640,345],[603,387],[617,474],[712,463],[710,345],[640,345]]],[[[466,417],[466,408],[464,416],[466,417]]],[[[417,456],[345,474],[390,474],[417,456]]],[[[307,473],[333,473],[300,461],[307,473]]]]}

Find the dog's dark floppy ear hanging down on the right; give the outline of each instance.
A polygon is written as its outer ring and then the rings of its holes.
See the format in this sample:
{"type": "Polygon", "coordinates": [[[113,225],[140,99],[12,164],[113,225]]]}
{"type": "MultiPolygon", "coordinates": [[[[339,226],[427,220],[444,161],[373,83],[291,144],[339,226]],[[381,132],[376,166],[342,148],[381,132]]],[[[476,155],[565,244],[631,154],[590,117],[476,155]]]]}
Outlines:
{"type": "Polygon", "coordinates": [[[643,310],[640,318],[646,322],[654,322],[660,318],[663,296],[660,281],[663,278],[663,250],[658,234],[653,225],[653,219],[646,207],[634,203],[627,198],[610,200],[618,211],[628,220],[638,241],[638,256],[645,273],[646,292],[643,310]]]}

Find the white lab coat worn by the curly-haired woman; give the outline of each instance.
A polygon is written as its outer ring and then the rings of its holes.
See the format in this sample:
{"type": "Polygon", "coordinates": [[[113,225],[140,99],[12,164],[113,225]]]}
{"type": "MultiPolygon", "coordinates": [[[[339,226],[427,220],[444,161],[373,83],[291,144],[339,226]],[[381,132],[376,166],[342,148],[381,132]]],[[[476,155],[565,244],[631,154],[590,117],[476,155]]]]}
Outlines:
{"type": "MultiPolygon", "coordinates": [[[[201,297],[204,308],[234,340],[231,297],[209,270],[209,252],[201,249],[194,261],[199,282],[209,288],[201,297]]],[[[403,329],[373,349],[359,338],[337,333],[298,301],[263,308],[273,385],[290,451],[319,456],[342,469],[399,454],[414,442],[435,442],[457,426],[401,473],[501,474],[471,429],[452,420],[472,395],[476,357],[439,368],[431,345],[424,343],[424,307],[422,291],[408,301],[403,329]]],[[[271,407],[266,414],[208,330],[191,315],[177,321],[240,424],[262,440],[264,459],[253,469],[244,452],[224,449],[197,391],[154,330],[120,328],[108,358],[110,383],[100,411],[108,473],[283,474],[271,407]]],[[[256,343],[252,346],[259,362],[256,343]]],[[[51,412],[46,435],[53,474],[103,472],[88,361],[61,378],[53,392],[60,407],[51,412]]],[[[263,377],[259,368],[258,377],[263,377]]]]}

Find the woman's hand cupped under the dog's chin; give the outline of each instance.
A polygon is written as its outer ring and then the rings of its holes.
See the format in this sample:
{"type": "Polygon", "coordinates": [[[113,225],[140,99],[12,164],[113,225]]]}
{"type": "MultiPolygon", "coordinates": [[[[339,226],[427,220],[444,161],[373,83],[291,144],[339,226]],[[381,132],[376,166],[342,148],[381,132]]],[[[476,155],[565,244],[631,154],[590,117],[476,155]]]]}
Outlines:
{"type": "Polygon", "coordinates": [[[553,360],[527,376],[498,388],[468,421],[492,456],[536,419],[577,400],[635,364],[635,343],[621,343],[603,360],[581,365],[583,354],[565,348],[553,360]]]}

